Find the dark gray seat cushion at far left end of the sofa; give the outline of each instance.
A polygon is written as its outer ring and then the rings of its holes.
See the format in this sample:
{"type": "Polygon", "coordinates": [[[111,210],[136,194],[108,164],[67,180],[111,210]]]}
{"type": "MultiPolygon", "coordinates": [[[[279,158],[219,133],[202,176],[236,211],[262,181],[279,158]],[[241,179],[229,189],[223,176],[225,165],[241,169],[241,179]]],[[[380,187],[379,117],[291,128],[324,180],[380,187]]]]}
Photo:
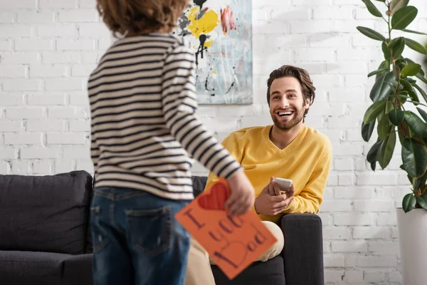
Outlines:
{"type": "Polygon", "coordinates": [[[1,284],[60,285],[70,254],[0,251],[1,284]]]}

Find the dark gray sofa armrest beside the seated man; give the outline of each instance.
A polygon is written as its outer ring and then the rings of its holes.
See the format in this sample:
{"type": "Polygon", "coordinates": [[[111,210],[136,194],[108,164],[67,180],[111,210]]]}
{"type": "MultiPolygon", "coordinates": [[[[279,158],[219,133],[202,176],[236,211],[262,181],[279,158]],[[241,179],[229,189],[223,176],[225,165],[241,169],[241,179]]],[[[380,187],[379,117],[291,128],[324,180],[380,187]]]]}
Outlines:
{"type": "Polygon", "coordinates": [[[324,285],[322,219],[317,214],[285,214],[280,227],[286,285],[324,285]]]}

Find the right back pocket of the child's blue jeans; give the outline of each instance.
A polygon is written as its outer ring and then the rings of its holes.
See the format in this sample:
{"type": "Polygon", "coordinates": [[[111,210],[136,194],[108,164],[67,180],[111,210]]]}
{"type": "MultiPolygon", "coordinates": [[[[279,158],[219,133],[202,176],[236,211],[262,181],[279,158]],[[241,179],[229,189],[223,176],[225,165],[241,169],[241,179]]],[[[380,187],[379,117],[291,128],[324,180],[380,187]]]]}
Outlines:
{"type": "Polygon", "coordinates": [[[170,247],[172,207],[128,209],[127,227],[132,246],[141,254],[157,255],[170,247]]]}

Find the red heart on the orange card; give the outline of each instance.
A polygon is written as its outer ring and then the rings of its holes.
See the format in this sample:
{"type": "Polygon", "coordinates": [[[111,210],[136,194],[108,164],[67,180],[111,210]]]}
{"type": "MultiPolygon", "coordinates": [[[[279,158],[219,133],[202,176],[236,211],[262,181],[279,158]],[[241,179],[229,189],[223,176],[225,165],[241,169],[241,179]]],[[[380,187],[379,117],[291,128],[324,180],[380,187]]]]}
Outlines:
{"type": "Polygon", "coordinates": [[[218,181],[209,188],[209,192],[200,195],[197,202],[202,209],[223,210],[227,197],[228,188],[218,181]]]}

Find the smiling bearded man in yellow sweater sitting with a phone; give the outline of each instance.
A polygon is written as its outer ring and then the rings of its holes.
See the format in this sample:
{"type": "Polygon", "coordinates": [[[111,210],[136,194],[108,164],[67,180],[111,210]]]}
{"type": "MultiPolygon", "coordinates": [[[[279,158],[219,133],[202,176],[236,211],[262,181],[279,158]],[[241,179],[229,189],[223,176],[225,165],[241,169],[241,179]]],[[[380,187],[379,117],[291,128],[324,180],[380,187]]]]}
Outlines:
{"type": "MultiPolygon", "coordinates": [[[[222,142],[244,167],[255,188],[253,210],[278,239],[260,261],[276,257],[283,249],[283,233],[276,224],[283,214],[319,212],[330,172],[332,147],[326,135],[304,125],[314,99],[315,87],[307,71],[282,66],[270,73],[267,81],[267,102],[273,125],[244,128],[222,142]],[[283,192],[275,177],[292,180],[290,190],[283,192]]],[[[218,178],[210,173],[206,187],[216,180],[218,178]]],[[[209,281],[213,279],[206,258],[196,257],[200,251],[203,249],[192,240],[187,285],[214,284],[209,281]]]]}

